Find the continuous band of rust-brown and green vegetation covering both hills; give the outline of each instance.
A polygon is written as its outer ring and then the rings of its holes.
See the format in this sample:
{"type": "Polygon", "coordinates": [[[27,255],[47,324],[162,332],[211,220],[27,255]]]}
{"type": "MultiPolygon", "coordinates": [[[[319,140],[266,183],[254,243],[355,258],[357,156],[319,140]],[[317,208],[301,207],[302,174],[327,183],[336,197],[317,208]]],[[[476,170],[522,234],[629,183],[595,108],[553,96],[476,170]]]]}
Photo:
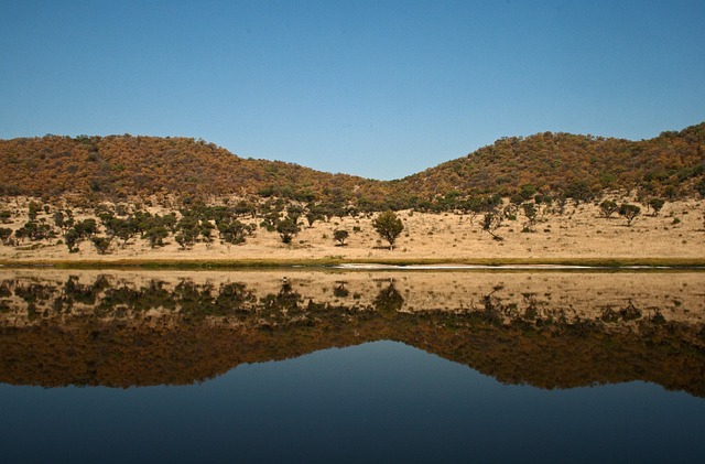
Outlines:
{"type": "Polygon", "coordinates": [[[471,195],[587,201],[610,190],[675,199],[705,195],[705,122],[642,141],[552,132],[503,138],[389,182],[242,159],[202,140],[129,134],[0,140],[0,195],[45,201],[275,196],[381,211],[448,209],[471,195]]]}

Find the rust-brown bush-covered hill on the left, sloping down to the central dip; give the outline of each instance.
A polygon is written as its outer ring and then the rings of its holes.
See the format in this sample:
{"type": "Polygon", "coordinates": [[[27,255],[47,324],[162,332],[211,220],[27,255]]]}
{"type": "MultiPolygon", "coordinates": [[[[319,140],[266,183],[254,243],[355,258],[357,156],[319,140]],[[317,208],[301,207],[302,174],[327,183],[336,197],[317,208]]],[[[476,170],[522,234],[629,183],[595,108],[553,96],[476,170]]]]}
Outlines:
{"type": "Polygon", "coordinates": [[[242,159],[187,138],[109,136],[0,141],[0,194],[54,197],[93,194],[110,199],[175,194],[283,196],[310,201],[325,193],[381,185],[279,161],[242,159]]]}

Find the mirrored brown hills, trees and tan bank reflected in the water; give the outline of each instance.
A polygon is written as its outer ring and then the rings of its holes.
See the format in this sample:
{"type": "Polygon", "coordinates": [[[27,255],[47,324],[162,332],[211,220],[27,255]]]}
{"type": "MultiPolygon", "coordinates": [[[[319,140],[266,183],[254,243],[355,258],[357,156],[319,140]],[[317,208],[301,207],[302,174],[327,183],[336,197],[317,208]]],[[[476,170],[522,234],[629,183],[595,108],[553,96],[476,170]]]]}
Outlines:
{"type": "Polygon", "coordinates": [[[187,385],[391,339],[507,384],[705,397],[702,272],[0,272],[0,381],[187,385]]]}

